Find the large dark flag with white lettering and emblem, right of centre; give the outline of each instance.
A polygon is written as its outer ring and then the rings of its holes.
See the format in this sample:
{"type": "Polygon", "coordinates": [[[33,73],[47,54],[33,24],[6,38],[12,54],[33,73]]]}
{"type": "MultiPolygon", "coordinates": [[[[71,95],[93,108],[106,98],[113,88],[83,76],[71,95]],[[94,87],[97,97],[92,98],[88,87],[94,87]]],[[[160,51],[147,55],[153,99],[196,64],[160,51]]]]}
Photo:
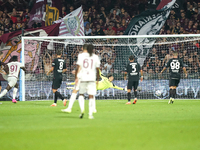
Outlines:
{"type": "MultiPolygon", "coordinates": [[[[176,0],[161,1],[157,7],[158,10],[147,10],[135,16],[129,23],[124,34],[130,36],[159,34],[175,1],[176,0]]],[[[128,38],[127,43],[129,46],[126,52],[123,51],[121,56],[124,56],[128,61],[129,55],[134,55],[138,63],[142,66],[154,42],[155,39],[153,38],[128,38]]]]}

